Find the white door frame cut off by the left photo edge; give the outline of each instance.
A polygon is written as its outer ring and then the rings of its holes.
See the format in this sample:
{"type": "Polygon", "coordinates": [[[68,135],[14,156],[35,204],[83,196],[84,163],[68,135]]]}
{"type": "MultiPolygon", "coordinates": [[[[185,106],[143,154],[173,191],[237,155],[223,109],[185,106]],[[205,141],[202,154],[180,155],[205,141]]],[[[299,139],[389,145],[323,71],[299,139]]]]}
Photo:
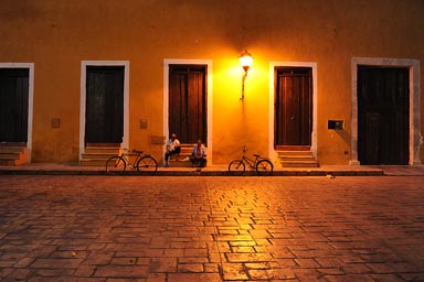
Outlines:
{"type": "Polygon", "coordinates": [[[26,140],[26,162],[31,163],[32,155],[32,123],[34,106],[34,63],[0,63],[1,68],[28,68],[28,140],[26,140]]]}

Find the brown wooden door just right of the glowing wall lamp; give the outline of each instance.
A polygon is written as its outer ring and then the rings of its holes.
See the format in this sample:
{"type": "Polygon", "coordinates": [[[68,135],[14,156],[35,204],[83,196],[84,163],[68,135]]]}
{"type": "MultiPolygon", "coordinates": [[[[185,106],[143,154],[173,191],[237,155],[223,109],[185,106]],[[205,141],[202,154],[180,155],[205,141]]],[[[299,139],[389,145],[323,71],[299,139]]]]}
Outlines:
{"type": "Polygon", "coordinates": [[[274,145],[311,144],[312,78],[309,67],[275,69],[274,145]]]}

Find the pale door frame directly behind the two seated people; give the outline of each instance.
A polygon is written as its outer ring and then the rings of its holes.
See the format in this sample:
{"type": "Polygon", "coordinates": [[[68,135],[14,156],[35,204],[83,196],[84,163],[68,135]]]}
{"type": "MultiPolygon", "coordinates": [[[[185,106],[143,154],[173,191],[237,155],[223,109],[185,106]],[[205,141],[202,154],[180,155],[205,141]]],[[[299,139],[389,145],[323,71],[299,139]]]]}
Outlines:
{"type": "MultiPolygon", "coordinates": [[[[169,134],[169,65],[206,65],[206,104],[208,104],[208,163],[212,162],[212,59],[190,59],[190,58],[165,58],[163,59],[163,137],[169,134]]],[[[165,154],[165,147],[163,147],[165,154]]]]}

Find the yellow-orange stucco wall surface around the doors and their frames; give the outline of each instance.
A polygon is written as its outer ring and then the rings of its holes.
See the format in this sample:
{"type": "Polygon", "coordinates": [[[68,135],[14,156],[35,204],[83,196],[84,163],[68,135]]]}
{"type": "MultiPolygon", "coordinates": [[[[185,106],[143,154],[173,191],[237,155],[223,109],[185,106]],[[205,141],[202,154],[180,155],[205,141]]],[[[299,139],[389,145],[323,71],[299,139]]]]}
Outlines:
{"type": "MultiPolygon", "coordinates": [[[[0,63],[34,63],[33,162],[78,160],[82,61],[129,62],[129,145],[161,156],[150,135],[163,134],[163,59],[210,59],[214,164],[237,156],[243,144],[268,154],[269,62],[317,65],[318,160],[348,164],[352,57],[424,61],[422,0],[0,0],[0,63]],[[244,48],[255,61],[242,104],[244,48]],[[61,128],[51,127],[52,118],[61,128]],[[343,120],[344,130],[328,130],[328,119],[343,120]]],[[[423,86],[423,73],[418,80],[423,86]]]]}

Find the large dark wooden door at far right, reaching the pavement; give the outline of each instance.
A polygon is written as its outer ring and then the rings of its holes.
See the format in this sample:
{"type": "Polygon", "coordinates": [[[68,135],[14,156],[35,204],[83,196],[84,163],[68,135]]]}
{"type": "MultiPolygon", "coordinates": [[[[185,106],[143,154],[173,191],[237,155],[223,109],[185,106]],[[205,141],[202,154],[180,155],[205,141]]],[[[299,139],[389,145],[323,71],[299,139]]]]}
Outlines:
{"type": "Polygon", "coordinates": [[[407,164],[409,69],[358,68],[358,156],[361,164],[407,164]]]}

